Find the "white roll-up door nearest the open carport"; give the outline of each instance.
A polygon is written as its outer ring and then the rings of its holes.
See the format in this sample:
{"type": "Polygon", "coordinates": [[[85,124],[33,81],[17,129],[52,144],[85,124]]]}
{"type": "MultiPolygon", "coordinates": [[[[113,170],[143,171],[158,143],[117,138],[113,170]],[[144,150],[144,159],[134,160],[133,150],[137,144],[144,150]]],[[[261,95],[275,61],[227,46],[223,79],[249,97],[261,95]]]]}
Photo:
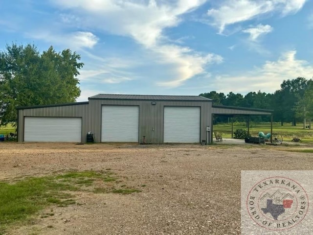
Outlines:
{"type": "Polygon", "coordinates": [[[200,107],[164,107],[164,143],[200,142],[200,107]]]}

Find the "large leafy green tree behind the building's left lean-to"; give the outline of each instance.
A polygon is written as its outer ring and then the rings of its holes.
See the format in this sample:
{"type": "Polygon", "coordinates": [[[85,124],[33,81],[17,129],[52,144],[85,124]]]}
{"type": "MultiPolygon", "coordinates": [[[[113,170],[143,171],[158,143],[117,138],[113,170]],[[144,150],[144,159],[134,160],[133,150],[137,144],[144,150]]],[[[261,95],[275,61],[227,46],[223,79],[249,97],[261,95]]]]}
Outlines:
{"type": "Polygon", "coordinates": [[[7,45],[0,51],[0,126],[17,120],[16,107],[74,102],[81,57],[70,49],[40,51],[34,45],[7,45]]]}

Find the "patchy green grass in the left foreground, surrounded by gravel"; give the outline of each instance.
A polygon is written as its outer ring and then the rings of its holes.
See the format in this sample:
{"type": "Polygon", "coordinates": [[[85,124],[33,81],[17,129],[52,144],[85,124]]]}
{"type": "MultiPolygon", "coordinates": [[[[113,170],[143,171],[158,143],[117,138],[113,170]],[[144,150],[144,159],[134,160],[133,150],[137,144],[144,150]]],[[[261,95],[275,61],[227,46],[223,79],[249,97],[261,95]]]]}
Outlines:
{"type": "MultiPolygon", "coordinates": [[[[49,205],[67,207],[76,204],[71,191],[90,191],[95,193],[130,194],[141,190],[127,188],[116,189],[117,177],[110,171],[68,172],[62,175],[32,177],[14,183],[0,182],[0,235],[8,226],[27,221],[31,215],[49,205]],[[103,182],[103,188],[93,188],[93,182],[103,182]],[[108,182],[110,186],[107,185],[108,182]],[[112,187],[112,182],[114,187],[112,187]]],[[[54,213],[42,215],[42,218],[54,213]]]]}

